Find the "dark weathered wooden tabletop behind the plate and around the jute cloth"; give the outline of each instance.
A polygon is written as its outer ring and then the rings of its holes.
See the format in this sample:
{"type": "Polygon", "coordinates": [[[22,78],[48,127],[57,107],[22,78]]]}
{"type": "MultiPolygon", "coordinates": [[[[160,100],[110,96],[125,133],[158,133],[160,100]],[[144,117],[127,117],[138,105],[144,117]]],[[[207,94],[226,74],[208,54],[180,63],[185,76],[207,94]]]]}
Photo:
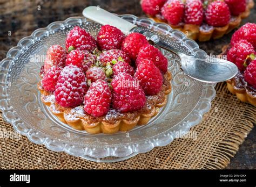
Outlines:
{"type": "MultiPolygon", "coordinates": [[[[255,0],[254,0],[255,1],[255,0]]],[[[140,8],[139,0],[66,0],[66,1],[26,1],[26,0],[0,0],[0,60],[8,50],[17,45],[17,42],[33,30],[45,27],[52,21],[64,20],[71,16],[82,16],[82,10],[89,5],[99,5],[108,11],[126,14],[130,13],[145,17],[140,8]],[[8,35],[11,33],[11,35],[8,35]]],[[[255,23],[256,8],[250,17],[243,21],[255,23]]],[[[209,55],[218,55],[221,47],[229,43],[232,33],[225,37],[208,42],[200,42],[199,46],[209,55]]],[[[231,160],[227,169],[255,169],[256,164],[256,129],[242,143],[239,151],[231,160]]]]}

